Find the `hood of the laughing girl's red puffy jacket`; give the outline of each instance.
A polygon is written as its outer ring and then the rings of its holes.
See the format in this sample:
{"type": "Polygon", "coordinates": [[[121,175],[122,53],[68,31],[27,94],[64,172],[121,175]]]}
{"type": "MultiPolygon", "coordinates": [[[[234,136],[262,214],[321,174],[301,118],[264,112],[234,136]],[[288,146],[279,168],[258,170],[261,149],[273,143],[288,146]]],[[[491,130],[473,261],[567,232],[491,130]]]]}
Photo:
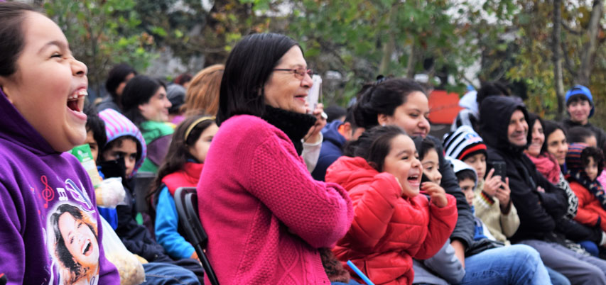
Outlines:
{"type": "Polygon", "coordinates": [[[350,191],[354,186],[372,182],[379,174],[362,157],[339,157],[326,170],[326,181],[343,186],[350,191]]]}

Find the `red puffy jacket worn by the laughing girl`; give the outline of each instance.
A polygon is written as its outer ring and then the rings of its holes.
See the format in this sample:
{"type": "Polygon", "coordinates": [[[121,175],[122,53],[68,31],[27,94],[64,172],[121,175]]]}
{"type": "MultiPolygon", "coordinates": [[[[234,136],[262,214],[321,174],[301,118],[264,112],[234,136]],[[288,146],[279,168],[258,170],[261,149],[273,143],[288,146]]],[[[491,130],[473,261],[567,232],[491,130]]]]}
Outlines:
{"type": "Polygon", "coordinates": [[[396,178],[362,157],[340,157],[326,181],[343,186],[354,206],[352,226],[332,251],[342,262],[352,260],[374,284],[412,284],[412,258],[435,255],[455,228],[453,196],[446,194],[444,208],[423,194],[401,197],[396,178]]]}

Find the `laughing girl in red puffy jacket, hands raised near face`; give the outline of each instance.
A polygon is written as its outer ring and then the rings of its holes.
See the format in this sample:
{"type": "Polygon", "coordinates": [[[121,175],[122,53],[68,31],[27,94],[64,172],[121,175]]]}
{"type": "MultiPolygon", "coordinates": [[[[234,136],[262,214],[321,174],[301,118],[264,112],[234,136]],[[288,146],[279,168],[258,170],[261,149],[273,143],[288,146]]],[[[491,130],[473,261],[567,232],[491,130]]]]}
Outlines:
{"type": "Polygon", "coordinates": [[[354,220],[333,252],[374,284],[412,284],[412,259],[432,257],[455,228],[454,197],[438,184],[421,184],[415,145],[399,127],[367,130],[345,155],[328,168],[326,181],[348,191],[354,220]]]}

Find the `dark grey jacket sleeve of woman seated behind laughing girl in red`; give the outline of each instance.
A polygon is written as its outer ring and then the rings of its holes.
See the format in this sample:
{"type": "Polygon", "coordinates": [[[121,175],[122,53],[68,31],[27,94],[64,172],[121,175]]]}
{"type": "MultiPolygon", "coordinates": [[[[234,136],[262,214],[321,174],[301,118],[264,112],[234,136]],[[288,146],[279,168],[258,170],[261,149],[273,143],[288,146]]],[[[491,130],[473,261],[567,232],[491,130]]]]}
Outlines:
{"type": "Polygon", "coordinates": [[[450,240],[460,240],[463,245],[465,245],[466,251],[469,252],[470,249],[474,247],[473,235],[475,231],[475,223],[471,207],[469,206],[469,203],[467,203],[467,199],[465,199],[465,194],[463,194],[459,187],[459,182],[455,176],[455,172],[453,171],[452,164],[450,164],[448,160],[444,159],[442,143],[440,140],[433,138],[431,135],[428,135],[427,138],[433,140],[433,143],[435,143],[435,148],[438,150],[440,174],[442,174],[440,186],[442,186],[446,193],[455,196],[455,199],[457,199],[457,225],[455,225],[453,234],[450,235],[450,240]]]}

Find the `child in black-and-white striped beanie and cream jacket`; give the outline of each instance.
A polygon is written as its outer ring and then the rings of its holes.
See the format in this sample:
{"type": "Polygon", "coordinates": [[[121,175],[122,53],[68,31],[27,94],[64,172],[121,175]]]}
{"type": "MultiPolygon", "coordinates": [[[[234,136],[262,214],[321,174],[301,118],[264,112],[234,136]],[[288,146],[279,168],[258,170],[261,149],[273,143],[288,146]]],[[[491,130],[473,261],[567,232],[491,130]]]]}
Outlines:
{"type": "Polygon", "coordinates": [[[486,174],[486,145],[475,130],[462,125],[444,139],[444,152],[447,157],[461,160],[475,169],[477,186],[473,206],[475,216],[482,219],[490,233],[499,240],[509,244],[519,228],[520,220],[517,210],[509,199],[509,185],[500,176],[493,176],[494,169],[486,174]]]}

